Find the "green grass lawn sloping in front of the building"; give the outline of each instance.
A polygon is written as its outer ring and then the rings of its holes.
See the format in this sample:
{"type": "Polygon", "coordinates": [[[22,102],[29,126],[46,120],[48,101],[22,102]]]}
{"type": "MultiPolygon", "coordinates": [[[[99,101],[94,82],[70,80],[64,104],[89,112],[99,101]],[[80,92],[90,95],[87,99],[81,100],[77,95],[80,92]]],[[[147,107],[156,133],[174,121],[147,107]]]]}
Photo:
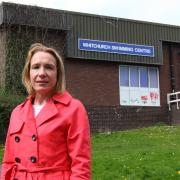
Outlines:
{"type": "Polygon", "coordinates": [[[180,127],[92,136],[93,180],[180,179],[180,127]]]}

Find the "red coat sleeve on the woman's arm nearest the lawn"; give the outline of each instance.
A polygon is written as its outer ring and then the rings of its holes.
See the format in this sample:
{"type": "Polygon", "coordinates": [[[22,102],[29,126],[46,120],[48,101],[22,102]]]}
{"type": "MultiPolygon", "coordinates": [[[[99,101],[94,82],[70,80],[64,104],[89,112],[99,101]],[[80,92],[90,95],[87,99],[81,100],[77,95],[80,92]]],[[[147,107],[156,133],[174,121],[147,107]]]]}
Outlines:
{"type": "Polygon", "coordinates": [[[71,180],[91,179],[90,127],[86,110],[81,103],[74,112],[67,134],[71,164],[71,180]]]}

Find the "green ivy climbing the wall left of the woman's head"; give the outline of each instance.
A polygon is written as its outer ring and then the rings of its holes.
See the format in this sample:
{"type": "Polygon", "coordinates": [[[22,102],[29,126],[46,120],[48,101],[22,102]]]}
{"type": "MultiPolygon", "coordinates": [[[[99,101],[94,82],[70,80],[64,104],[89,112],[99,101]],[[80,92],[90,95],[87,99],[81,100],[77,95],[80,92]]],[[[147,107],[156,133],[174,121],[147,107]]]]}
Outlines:
{"type": "Polygon", "coordinates": [[[11,27],[7,32],[5,91],[17,95],[25,94],[26,90],[21,83],[21,74],[27,51],[33,41],[32,34],[20,26],[11,27]]]}

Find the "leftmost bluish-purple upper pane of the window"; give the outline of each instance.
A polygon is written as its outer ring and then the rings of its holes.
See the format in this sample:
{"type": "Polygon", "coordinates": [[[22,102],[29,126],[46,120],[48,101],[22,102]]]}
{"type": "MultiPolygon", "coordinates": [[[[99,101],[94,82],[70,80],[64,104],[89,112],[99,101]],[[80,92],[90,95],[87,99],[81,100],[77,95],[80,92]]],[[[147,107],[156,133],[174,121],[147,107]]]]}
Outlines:
{"type": "Polygon", "coordinates": [[[120,85],[129,86],[129,67],[120,66],[120,85]]]}

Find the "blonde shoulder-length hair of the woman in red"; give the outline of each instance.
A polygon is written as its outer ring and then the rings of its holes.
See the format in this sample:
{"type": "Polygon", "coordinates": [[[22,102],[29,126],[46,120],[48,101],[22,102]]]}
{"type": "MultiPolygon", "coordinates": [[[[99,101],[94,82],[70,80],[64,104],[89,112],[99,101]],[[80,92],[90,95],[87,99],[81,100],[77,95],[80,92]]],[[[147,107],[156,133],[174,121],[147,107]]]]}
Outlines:
{"type": "Polygon", "coordinates": [[[41,43],[32,44],[26,58],[26,62],[24,65],[24,69],[22,72],[22,83],[25,86],[29,95],[35,95],[35,91],[30,82],[30,65],[31,59],[33,55],[37,52],[47,52],[51,54],[56,59],[57,65],[57,82],[54,91],[55,92],[63,92],[65,91],[65,70],[64,63],[62,57],[58,54],[58,52],[50,47],[47,47],[41,43]]]}

